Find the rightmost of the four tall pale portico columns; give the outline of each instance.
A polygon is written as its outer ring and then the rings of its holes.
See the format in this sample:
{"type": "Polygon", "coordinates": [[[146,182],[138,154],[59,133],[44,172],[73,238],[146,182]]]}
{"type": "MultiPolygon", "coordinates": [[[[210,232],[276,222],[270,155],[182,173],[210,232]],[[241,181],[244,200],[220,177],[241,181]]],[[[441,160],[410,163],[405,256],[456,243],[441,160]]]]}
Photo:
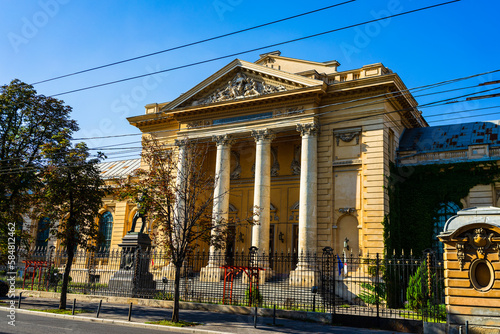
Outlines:
{"type": "Polygon", "coordinates": [[[300,156],[299,196],[299,262],[290,273],[293,286],[318,286],[319,272],[315,263],[317,250],[317,191],[318,191],[318,140],[319,125],[297,124],[302,136],[300,156]]]}

